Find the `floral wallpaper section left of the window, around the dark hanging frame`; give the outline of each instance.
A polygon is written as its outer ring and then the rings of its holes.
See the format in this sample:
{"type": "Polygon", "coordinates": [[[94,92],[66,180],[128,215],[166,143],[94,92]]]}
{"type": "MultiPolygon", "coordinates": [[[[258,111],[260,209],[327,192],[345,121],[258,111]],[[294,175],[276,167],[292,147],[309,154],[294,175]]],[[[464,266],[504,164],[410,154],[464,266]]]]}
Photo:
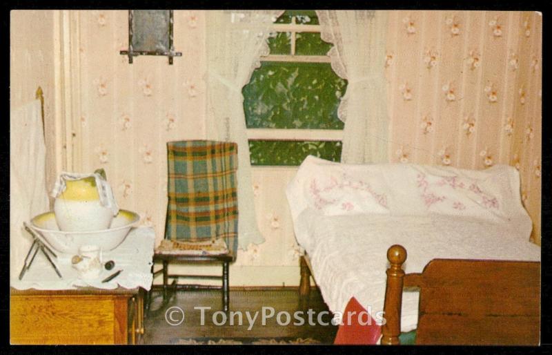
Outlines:
{"type": "MultiPolygon", "coordinates": [[[[128,48],[126,10],[73,12],[78,30],[78,90],[73,97],[76,171],[102,167],[121,208],[163,238],[166,142],[204,138],[204,17],[175,11],[175,49],[166,57],[119,55],[128,48]]],[[[76,30],[76,31],[77,31],[76,30]]]]}

